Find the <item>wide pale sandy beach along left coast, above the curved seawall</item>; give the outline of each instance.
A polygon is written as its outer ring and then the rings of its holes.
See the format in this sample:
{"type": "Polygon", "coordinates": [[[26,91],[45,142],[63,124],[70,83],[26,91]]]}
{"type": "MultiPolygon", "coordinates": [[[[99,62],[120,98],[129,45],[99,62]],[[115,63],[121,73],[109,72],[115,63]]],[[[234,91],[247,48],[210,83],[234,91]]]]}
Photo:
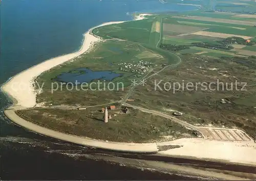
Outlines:
{"type": "MultiPolygon", "coordinates": [[[[9,97],[14,99],[14,103],[16,105],[20,105],[23,107],[34,107],[36,105],[36,95],[37,93],[34,90],[33,83],[37,76],[41,73],[50,70],[52,67],[57,66],[61,63],[67,62],[84,52],[88,51],[92,45],[96,42],[101,41],[100,38],[93,36],[90,34],[90,31],[94,28],[111,25],[111,24],[119,24],[124,21],[111,21],[105,22],[99,26],[93,27],[83,34],[84,40],[82,46],[79,51],[58,56],[49,60],[46,60],[42,63],[39,63],[35,66],[30,67],[29,69],[15,75],[8,82],[6,82],[1,89],[4,93],[8,94],[9,97]]],[[[41,85],[39,85],[41,86],[41,85]]]]}

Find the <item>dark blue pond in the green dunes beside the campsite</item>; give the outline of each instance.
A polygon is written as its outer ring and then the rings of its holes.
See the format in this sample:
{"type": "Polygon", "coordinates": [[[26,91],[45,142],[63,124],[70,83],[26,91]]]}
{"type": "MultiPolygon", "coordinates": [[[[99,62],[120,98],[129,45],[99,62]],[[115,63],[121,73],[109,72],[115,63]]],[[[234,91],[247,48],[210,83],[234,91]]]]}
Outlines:
{"type": "Polygon", "coordinates": [[[103,79],[111,81],[116,77],[122,76],[122,74],[116,74],[112,71],[92,71],[87,68],[79,68],[68,73],[62,73],[55,77],[53,80],[59,82],[91,82],[93,80],[103,79]]]}

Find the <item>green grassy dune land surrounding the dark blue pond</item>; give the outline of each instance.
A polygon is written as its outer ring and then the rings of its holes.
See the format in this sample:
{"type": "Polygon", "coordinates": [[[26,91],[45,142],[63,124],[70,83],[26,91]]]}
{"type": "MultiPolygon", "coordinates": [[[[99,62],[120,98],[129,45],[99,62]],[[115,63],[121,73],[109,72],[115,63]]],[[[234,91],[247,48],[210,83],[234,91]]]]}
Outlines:
{"type": "MultiPolygon", "coordinates": [[[[71,62],[56,66],[48,72],[38,76],[36,81],[39,82],[39,84],[44,82],[44,88],[42,93],[37,96],[37,102],[47,102],[48,105],[75,105],[79,103],[83,106],[91,106],[118,101],[121,97],[124,97],[127,88],[129,88],[128,86],[132,84],[133,80],[141,79],[141,77],[137,77],[137,75],[140,74],[134,70],[140,70],[137,68],[136,64],[138,64],[142,58],[143,61],[150,62],[152,65],[156,66],[154,67],[155,71],[160,70],[163,63],[172,64],[178,61],[174,54],[153,48],[146,44],[143,44],[142,46],[137,42],[118,40],[101,42],[90,53],[83,54],[71,62]],[[127,68],[127,65],[124,63],[132,63],[133,67],[127,68]],[[115,74],[121,74],[121,76],[105,81],[105,85],[109,85],[108,83],[112,82],[114,83],[113,87],[116,88],[114,90],[108,90],[108,87],[106,87],[104,94],[101,94],[102,90],[99,90],[97,85],[93,86],[93,89],[96,88],[97,90],[89,89],[82,91],[81,89],[72,89],[70,91],[69,87],[63,86],[62,90],[58,89],[58,91],[51,93],[52,83],[56,82],[53,80],[55,77],[62,73],[70,73],[72,71],[72,73],[75,73],[74,70],[81,67],[90,69],[91,71],[112,71],[115,74]],[[122,89],[122,86],[124,89],[122,89]]],[[[147,72],[152,68],[153,67],[148,67],[147,72]]],[[[142,73],[146,74],[146,72],[142,73]]],[[[103,79],[104,78],[101,78],[100,81],[102,82],[103,79]]],[[[88,83],[97,81],[98,79],[93,79],[88,83]]],[[[100,84],[99,87],[102,89],[104,84],[100,84]]]]}

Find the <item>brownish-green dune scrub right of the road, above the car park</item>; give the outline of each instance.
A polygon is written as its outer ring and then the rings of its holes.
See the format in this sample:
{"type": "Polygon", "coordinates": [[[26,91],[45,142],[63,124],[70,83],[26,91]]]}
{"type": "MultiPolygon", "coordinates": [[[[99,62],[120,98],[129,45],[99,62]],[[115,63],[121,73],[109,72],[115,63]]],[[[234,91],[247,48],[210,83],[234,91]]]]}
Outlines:
{"type": "Polygon", "coordinates": [[[221,59],[183,55],[183,63],[175,70],[164,70],[154,78],[147,80],[147,85],[138,86],[131,95],[134,105],[172,114],[173,110],[184,113],[179,119],[194,125],[209,124],[238,127],[254,137],[256,128],[256,59],[254,57],[222,57],[221,59]],[[155,81],[160,88],[155,88],[155,81]],[[217,80],[220,84],[217,84],[217,80]],[[247,82],[246,90],[242,84],[247,82]],[[169,88],[169,83],[171,88],[169,88]],[[186,84],[194,85],[186,89],[186,84]],[[198,82],[215,82],[211,89],[205,90],[198,82]],[[223,84],[221,83],[223,82],[223,84]],[[176,86],[174,83],[177,83],[176,86]],[[180,88],[178,86],[180,84],[180,88]],[[182,89],[182,83],[184,88],[182,89]],[[167,87],[164,89],[164,85],[167,87]],[[232,90],[230,89],[232,86],[232,90]],[[176,90],[175,90],[176,88],[176,90]],[[215,90],[214,90],[215,89],[215,90]],[[153,91],[154,90],[154,91],[153,91]],[[175,90],[175,91],[174,91],[175,90]],[[229,103],[221,103],[221,99],[229,103]]]}

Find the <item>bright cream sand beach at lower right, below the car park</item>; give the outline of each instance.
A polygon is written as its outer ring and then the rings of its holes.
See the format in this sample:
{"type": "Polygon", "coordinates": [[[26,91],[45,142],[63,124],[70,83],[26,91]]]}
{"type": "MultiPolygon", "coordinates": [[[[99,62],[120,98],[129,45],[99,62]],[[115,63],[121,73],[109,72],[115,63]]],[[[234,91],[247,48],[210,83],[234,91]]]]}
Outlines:
{"type": "MultiPolygon", "coordinates": [[[[214,141],[199,138],[184,138],[169,142],[172,145],[182,145],[180,148],[159,151],[163,155],[181,157],[192,156],[199,159],[214,159],[225,162],[256,165],[256,143],[214,141]]],[[[166,145],[160,143],[158,145],[166,145]]]]}

